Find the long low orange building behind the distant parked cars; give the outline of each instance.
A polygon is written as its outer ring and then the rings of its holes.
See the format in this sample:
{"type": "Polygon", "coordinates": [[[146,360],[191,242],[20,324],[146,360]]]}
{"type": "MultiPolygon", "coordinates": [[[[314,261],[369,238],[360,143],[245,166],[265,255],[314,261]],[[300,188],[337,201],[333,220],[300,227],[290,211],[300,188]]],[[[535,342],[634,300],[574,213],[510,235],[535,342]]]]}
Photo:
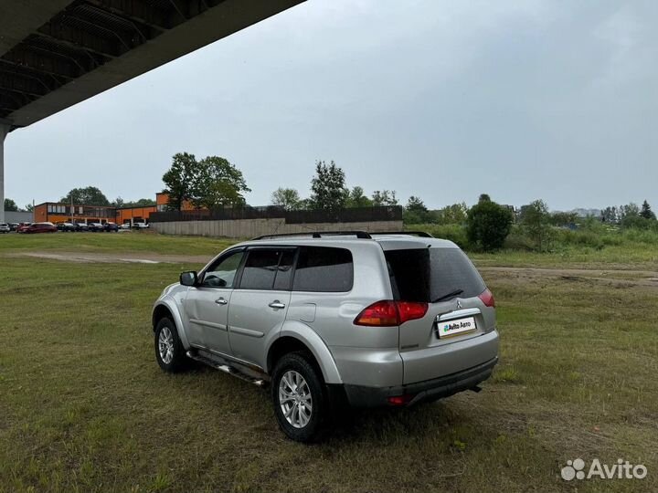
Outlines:
{"type": "MultiPolygon", "coordinates": [[[[73,205],[71,214],[70,204],[45,202],[35,205],[34,220],[36,223],[124,223],[148,222],[152,213],[166,210],[169,194],[159,192],[155,194],[155,205],[142,207],[110,207],[99,205],[73,205]]],[[[189,203],[183,204],[184,210],[192,210],[189,203]]]]}

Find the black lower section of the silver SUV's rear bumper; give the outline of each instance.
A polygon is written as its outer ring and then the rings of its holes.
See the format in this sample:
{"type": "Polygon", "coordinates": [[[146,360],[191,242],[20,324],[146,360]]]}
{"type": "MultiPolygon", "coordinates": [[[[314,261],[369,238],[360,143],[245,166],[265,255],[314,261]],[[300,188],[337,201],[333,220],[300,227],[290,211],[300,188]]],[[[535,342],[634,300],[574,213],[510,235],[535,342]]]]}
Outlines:
{"type": "Polygon", "coordinates": [[[345,395],[350,405],[354,407],[382,407],[391,405],[388,397],[406,395],[414,405],[448,397],[454,393],[473,389],[478,383],[488,379],[493,367],[498,362],[496,356],[488,362],[473,366],[461,372],[451,373],[424,382],[396,385],[392,387],[366,387],[362,385],[345,384],[345,395]]]}

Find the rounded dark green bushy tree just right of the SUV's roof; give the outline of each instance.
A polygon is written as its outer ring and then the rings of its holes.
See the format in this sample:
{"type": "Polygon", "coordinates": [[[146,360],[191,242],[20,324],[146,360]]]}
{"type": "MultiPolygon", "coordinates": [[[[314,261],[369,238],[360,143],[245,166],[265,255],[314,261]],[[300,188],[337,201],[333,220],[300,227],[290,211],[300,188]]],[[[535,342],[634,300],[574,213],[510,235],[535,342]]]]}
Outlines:
{"type": "Polygon", "coordinates": [[[512,211],[481,195],[468,212],[466,235],[472,247],[485,252],[497,250],[512,228],[512,211]]]}

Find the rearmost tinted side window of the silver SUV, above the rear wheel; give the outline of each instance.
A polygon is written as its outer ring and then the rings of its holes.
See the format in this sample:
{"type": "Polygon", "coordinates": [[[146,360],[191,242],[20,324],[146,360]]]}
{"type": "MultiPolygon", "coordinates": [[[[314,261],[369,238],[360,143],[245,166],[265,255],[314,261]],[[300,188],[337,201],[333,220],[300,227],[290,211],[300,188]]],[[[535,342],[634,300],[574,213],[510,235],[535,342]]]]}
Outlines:
{"type": "Polygon", "coordinates": [[[295,269],[294,291],[344,292],[352,289],[352,253],[344,248],[302,247],[295,269]]]}

